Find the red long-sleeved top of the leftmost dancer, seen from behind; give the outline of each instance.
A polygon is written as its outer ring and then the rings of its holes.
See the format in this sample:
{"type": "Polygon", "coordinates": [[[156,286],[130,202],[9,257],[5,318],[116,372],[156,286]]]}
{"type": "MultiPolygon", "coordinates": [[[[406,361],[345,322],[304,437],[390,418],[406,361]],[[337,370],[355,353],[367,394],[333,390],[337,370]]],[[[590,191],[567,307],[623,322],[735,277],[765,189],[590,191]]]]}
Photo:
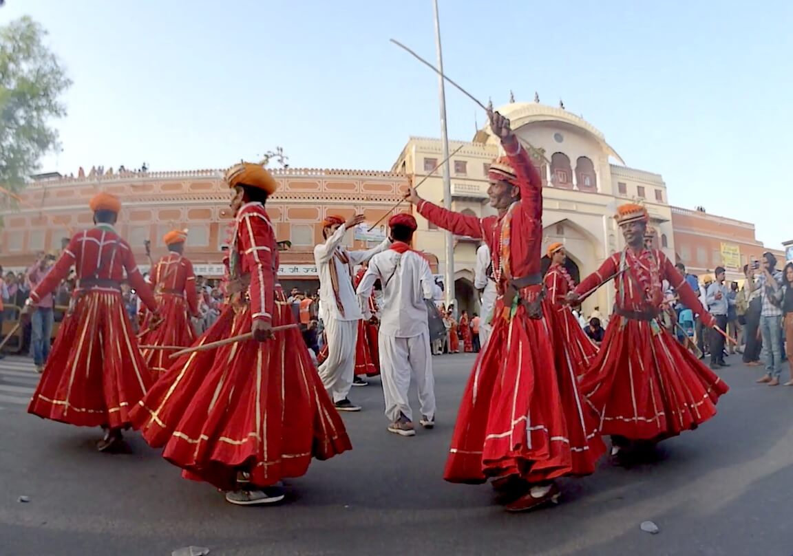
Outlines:
{"type": "MultiPolygon", "coordinates": [[[[116,233],[113,226],[99,224],[96,228],[72,236],[68,247],[63,250],[55,266],[30,293],[33,302],[38,303],[41,297],[55,291],[60,282],[67,278],[72,265],[75,265],[78,280],[95,277],[100,280],[121,282],[126,275],[129,285],[137,291],[140,301],[143,301],[152,313],[156,313],[157,301],[154,293],[140,274],[129,244],[116,233]]],[[[75,293],[78,291],[75,290],[75,293]]]]}

